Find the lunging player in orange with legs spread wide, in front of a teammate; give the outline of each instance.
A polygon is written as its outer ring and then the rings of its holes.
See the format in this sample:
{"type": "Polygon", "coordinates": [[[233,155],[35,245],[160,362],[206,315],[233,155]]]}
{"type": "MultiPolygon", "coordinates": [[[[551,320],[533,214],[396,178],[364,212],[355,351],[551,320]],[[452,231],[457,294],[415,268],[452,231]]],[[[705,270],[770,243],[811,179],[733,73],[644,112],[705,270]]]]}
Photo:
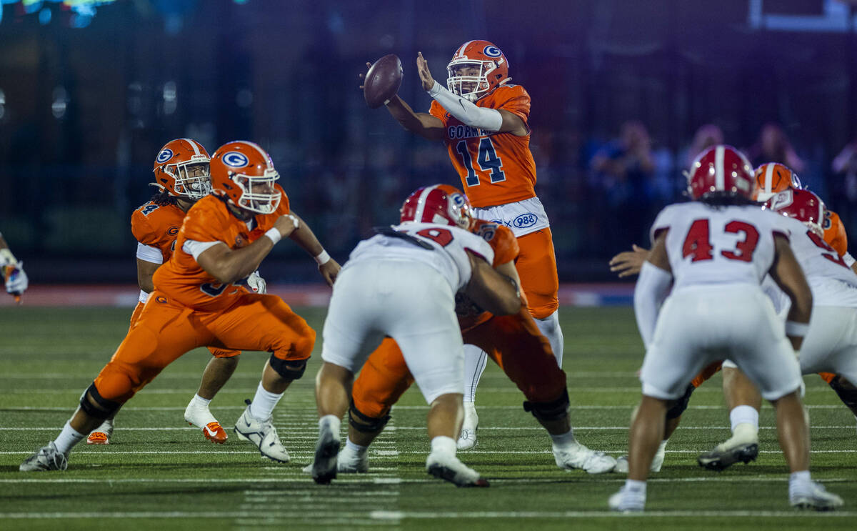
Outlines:
{"type": "Polygon", "coordinates": [[[303,375],[315,330],[279,297],[250,292],[243,279],[284,237],[315,256],[330,285],[339,264],[291,212],[278,178],[271,157],[252,142],[229,142],[213,154],[213,193],[185,215],[176,248],[155,271],[154,291],[140,316],[63,431],[21,463],[21,471],[65,469],[70,450],[84,434],[195,347],[272,353],[235,433],[263,456],[289,461],[273,426],[273,409],[303,375]]]}

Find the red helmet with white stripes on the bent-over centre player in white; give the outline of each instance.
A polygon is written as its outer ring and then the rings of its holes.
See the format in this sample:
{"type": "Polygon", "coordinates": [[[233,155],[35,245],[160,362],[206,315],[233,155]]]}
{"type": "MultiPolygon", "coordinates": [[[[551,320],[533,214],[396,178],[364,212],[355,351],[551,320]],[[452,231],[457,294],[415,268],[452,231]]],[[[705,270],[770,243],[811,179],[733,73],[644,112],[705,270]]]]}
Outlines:
{"type": "Polygon", "coordinates": [[[401,222],[437,223],[470,230],[473,210],[467,196],[449,184],[434,184],[417,189],[402,205],[401,222]]]}

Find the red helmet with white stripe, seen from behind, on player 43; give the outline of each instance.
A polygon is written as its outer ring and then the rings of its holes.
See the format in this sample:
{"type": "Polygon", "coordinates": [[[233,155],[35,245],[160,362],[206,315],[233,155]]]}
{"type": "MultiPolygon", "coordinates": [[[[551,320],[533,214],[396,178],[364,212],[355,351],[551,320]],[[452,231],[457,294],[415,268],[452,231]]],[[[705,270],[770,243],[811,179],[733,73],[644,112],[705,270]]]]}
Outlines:
{"type": "Polygon", "coordinates": [[[756,181],[744,154],[732,146],[712,146],[698,154],[687,173],[687,192],[693,200],[712,192],[732,192],[752,199],[756,181]]]}

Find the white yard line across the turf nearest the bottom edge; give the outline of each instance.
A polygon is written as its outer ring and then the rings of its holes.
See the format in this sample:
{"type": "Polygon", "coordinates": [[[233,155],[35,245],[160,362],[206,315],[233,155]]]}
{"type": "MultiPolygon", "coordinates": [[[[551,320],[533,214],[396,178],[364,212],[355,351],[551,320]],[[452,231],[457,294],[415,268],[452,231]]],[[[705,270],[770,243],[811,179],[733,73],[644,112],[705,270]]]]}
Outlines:
{"type": "MultiPolygon", "coordinates": [[[[335,514],[340,519],[366,518],[384,521],[384,520],[434,520],[434,519],[494,519],[494,518],[514,518],[514,519],[532,519],[546,518],[550,520],[560,518],[734,518],[734,517],[760,517],[760,518],[842,518],[857,516],[855,511],[831,511],[831,512],[816,512],[816,511],[796,511],[796,510],[726,510],[726,511],[695,511],[695,510],[655,510],[639,514],[617,514],[608,510],[566,510],[554,512],[538,512],[538,511],[479,511],[479,512],[443,512],[436,511],[407,511],[407,510],[367,510],[367,511],[350,511],[337,512],[335,514]]],[[[258,511],[116,511],[116,512],[45,512],[45,513],[0,513],[0,518],[10,518],[16,520],[56,520],[70,518],[249,518],[255,519],[259,517],[258,511]]],[[[279,511],[266,510],[266,518],[301,518],[317,520],[318,516],[308,515],[303,511],[279,511]]],[[[379,522],[380,523],[380,522],[379,522]]]]}

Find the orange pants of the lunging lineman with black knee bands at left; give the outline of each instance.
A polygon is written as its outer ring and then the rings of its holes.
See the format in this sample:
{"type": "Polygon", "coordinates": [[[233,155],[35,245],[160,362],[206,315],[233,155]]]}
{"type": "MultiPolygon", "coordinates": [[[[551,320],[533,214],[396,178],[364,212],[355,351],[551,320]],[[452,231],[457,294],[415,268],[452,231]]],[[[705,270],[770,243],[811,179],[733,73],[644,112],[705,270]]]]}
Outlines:
{"type": "Polygon", "coordinates": [[[243,293],[222,311],[198,311],[155,290],[111,360],[95,378],[106,400],[124,403],[167,365],[196,347],[273,353],[309,359],[315,330],[275,295],[243,293]]]}

